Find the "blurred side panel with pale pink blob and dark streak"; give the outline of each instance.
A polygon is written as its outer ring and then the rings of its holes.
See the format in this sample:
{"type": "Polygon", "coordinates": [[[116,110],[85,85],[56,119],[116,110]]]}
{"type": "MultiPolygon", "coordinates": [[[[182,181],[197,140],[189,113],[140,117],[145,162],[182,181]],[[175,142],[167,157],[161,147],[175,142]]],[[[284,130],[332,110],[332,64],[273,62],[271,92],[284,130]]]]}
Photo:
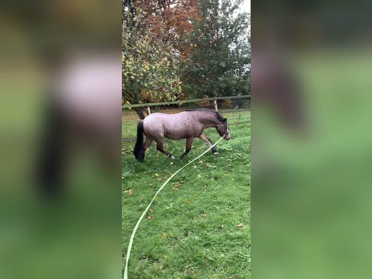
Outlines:
{"type": "Polygon", "coordinates": [[[0,8],[0,278],[121,276],[121,2],[0,8]]]}

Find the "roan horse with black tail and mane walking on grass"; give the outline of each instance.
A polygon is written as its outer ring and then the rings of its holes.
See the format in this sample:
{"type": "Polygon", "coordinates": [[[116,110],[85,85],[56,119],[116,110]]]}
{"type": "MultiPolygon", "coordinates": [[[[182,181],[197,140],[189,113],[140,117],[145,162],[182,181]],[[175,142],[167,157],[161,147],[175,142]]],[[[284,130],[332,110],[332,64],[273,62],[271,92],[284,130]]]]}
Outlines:
{"type": "MultiPolygon", "coordinates": [[[[196,108],[176,114],[152,113],[138,122],[137,140],[134,148],[135,158],[138,162],[142,162],[147,148],[154,140],[156,150],[174,159],[174,156],[163,148],[164,138],[171,140],[186,139],[186,148],[181,158],[185,157],[190,151],[195,138],[204,140],[209,146],[212,146],[212,141],[203,133],[204,129],[208,127],[215,127],[224,140],[230,140],[227,119],[218,111],[196,108]],[[145,143],[143,143],[143,134],[146,136],[145,143]]],[[[215,147],[212,148],[212,152],[218,155],[215,147]]]]}

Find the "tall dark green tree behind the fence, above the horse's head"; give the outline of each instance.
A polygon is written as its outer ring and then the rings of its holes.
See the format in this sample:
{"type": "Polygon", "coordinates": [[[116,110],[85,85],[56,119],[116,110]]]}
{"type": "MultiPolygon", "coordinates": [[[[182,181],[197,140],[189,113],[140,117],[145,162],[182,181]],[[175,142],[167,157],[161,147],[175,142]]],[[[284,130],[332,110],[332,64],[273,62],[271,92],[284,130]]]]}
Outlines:
{"type": "Polygon", "coordinates": [[[189,97],[245,95],[250,92],[250,17],[242,0],[200,0],[202,17],[188,41],[182,63],[183,93],[189,97]]]}

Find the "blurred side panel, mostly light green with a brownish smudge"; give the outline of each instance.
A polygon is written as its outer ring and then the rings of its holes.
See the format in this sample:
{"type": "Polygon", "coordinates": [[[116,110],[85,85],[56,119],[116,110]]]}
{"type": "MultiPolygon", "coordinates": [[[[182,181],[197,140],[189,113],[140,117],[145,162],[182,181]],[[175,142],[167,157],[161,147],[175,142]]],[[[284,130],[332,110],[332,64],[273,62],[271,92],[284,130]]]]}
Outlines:
{"type": "Polygon", "coordinates": [[[367,2],[252,3],[252,275],[370,278],[367,2]]]}

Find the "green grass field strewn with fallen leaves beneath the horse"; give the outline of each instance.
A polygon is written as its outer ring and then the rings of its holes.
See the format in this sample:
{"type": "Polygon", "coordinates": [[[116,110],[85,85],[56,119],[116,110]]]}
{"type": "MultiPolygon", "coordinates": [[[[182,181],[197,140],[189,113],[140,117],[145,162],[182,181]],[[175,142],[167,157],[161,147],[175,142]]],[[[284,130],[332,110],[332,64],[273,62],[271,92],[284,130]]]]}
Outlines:
{"type": "MultiPolygon", "coordinates": [[[[128,278],[251,278],[251,124],[229,124],[249,121],[250,111],[220,112],[227,117],[231,140],[216,146],[219,157],[210,151],[184,168],[155,198],[136,232],[128,278]]],[[[123,110],[123,262],[135,223],[156,191],[208,148],[195,139],[180,159],[185,140],[165,140],[165,150],[176,157],[171,160],[153,142],[138,163],[132,154],[137,122],[133,112],[123,110]]],[[[214,128],[205,134],[212,142],[220,137],[214,128]]]]}

